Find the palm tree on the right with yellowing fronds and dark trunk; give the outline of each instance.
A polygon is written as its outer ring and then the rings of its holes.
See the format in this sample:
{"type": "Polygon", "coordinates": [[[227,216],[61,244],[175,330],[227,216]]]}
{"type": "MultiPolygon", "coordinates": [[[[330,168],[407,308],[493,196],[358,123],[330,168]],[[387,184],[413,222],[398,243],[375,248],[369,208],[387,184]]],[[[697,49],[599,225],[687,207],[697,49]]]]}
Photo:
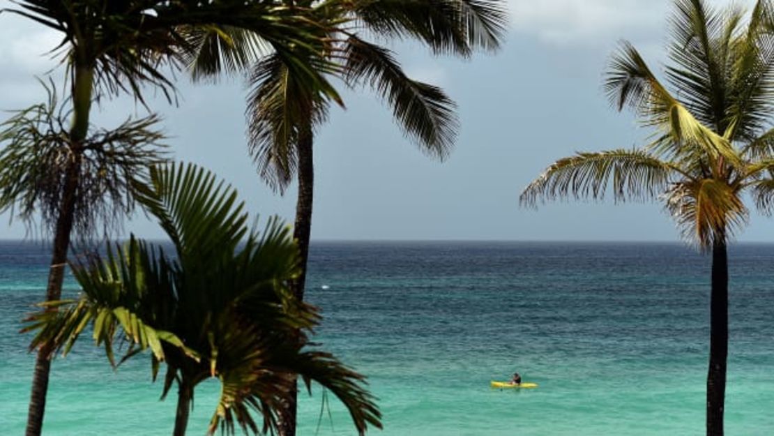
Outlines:
{"type": "Polygon", "coordinates": [[[716,11],[676,0],[670,60],[661,84],[629,43],[612,57],[605,89],[653,129],[642,149],[578,153],[557,160],[522,192],[522,204],[555,197],[616,201],[658,197],[700,249],[712,252],[707,434],[723,434],[728,356],[726,246],[745,225],[745,194],[765,213],[774,205],[774,8],[759,0],[716,11]]]}

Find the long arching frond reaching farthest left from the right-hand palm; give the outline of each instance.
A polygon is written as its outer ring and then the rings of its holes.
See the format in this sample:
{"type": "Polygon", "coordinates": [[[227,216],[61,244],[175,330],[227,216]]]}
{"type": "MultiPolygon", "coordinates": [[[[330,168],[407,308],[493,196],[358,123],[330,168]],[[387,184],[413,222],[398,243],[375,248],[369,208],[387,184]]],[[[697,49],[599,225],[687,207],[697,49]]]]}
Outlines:
{"type": "Polygon", "coordinates": [[[679,175],[680,168],[640,150],[578,153],[546,168],[522,191],[519,201],[535,206],[557,197],[601,200],[608,188],[615,201],[640,201],[663,193],[670,177],[679,175]]]}

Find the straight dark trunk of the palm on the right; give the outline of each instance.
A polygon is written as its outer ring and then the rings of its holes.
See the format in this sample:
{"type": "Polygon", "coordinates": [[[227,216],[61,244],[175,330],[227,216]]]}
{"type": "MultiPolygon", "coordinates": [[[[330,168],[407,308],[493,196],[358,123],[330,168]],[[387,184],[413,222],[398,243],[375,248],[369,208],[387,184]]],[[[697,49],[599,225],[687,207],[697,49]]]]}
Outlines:
{"type": "Polygon", "coordinates": [[[728,253],[724,238],[712,246],[710,367],[707,372],[707,436],[723,436],[728,359],[728,253]]]}

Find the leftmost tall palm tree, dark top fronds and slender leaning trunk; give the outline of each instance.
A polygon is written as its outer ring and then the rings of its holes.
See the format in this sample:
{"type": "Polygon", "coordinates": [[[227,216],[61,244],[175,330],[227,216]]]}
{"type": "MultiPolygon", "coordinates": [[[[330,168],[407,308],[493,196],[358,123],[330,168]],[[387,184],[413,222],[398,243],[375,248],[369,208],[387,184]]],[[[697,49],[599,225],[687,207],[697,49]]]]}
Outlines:
{"type": "MultiPolygon", "coordinates": [[[[61,294],[70,233],[77,221],[77,204],[89,129],[91,103],[121,92],[142,100],[142,87],[160,88],[174,97],[173,83],[164,75],[180,67],[181,47],[187,46],[190,26],[231,26],[255,33],[289,64],[303,70],[310,82],[325,60],[319,53],[325,31],[319,23],[300,17],[293,7],[262,0],[18,0],[15,9],[2,9],[32,19],[60,33],[54,47],[67,64],[70,82],[70,127],[63,129],[70,157],[61,173],[57,207],[46,224],[53,228],[53,252],[46,298],[61,294]],[[303,53],[298,57],[296,53],[303,53]]],[[[87,214],[88,215],[88,214],[87,214]]],[[[54,310],[52,308],[52,310],[54,310]]],[[[26,434],[36,436],[43,426],[50,362],[41,348],[36,359],[26,434]]]]}

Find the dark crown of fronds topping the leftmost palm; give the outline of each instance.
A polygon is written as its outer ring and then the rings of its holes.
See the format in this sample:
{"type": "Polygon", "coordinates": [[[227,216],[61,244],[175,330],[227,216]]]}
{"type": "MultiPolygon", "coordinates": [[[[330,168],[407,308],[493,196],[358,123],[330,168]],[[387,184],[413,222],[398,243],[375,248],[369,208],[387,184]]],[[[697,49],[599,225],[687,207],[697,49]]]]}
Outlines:
{"type": "MultiPolygon", "coordinates": [[[[172,101],[176,88],[168,77],[169,70],[179,70],[190,61],[190,53],[197,53],[192,44],[196,41],[187,36],[190,29],[200,26],[240,29],[245,39],[265,41],[289,64],[307,70],[320,86],[325,82],[313,72],[330,66],[323,55],[329,43],[327,24],[315,21],[313,15],[300,13],[300,7],[276,2],[18,0],[15,4],[17,7],[8,9],[9,12],[33,19],[62,35],[63,61],[71,69],[79,65],[94,69],[98,96],[127,92],[144,101],[143,91],[150,85],[172,101]]],[[[248,55],[248,50],[221,50],[220,54],[219,59],[227,63],[221,66],[228,67],[229,62],[248,55]]],[[[330,86],[326,92],[330,98],[336,97],[330,86]]]]}

